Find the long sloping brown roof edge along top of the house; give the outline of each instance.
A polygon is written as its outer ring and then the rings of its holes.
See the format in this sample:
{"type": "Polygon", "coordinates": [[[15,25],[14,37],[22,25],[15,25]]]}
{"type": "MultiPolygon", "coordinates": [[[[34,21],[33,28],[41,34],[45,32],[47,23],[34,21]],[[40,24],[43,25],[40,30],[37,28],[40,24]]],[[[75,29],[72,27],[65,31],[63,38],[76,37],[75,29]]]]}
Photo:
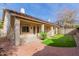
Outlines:
{"type": "Polygon", "coordinates": [[[24,18],[24,19],[30,18],[28,20],[36,21],[36,22],[40,22],[40,23],[44,23],[44,24],[49,24],[49,25],[54,25],[56,27],[59,27],[59,25],[55,25],[51,22],[48,22],[48,21],[45,21],[45,20],[42,20],[42,19],[38,19],[36,17],[30,16],[30,15],[27,15],[27,14],[24,14],[24,13],[16,12],[16,11],[10,10],[10,9],[4,9],[3,20],[4,20],[5,12],[9,12],[11,15],[13,15],[15,17],[24,18]]]}

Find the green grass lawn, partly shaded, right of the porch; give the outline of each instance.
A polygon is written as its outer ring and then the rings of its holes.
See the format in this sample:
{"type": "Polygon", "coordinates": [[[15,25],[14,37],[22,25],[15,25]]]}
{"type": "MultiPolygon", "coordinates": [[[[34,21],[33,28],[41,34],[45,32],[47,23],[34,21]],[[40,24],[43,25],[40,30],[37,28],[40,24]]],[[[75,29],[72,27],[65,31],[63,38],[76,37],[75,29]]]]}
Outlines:
{"type": "Polygon", "coordinates": [[[56,47],[76,47],[76,42],[74,37],[71,35],[57,34],[51,38],[46,38],[43,43],[48,46],[56,47]]]}

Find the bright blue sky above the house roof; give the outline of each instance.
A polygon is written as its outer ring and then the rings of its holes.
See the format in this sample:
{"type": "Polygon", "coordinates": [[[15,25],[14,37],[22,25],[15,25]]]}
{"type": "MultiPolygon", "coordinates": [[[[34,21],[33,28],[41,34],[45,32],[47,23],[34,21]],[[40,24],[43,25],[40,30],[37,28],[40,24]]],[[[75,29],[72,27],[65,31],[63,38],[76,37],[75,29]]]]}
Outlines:
{"type": "Polygon", "coordinates": [[[51,19],[51,22],[57,20],[58,12],[62,11],[65,8],[72,10],[79,10],[79,4],[64,4],[64,3],[7,3],[0,4],[0,18],[2,17],[2,9],[8,8],[15,11],[20,11],[20,8],[24,8],[26,14],[37,17],[39,19],[48,20],[51,19]]]}

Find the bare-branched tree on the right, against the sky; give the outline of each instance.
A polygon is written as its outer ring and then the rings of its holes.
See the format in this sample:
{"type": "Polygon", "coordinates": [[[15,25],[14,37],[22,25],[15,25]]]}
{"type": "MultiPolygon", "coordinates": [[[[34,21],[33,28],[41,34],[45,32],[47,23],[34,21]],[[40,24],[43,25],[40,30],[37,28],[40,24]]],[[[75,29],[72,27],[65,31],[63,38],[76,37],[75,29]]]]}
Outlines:
{"type": "Polygon", "coordinates": [[[63,26],[64,33],[66,32],[65,27],[74,27],[76,18],[76,11],[70,9],[64,9],[58,14],[57,24],[63,26]]]}

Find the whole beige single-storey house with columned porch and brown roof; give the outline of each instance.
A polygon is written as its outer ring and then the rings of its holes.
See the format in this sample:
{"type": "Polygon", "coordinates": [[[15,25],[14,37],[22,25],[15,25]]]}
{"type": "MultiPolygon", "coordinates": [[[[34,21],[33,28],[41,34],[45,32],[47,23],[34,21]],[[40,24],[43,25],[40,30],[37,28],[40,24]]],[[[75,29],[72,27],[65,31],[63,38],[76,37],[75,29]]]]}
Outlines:
{"type": "Polygon", "coordinates": [[[15,45],[38,39],[38,33],[47,32],[48,36],[59,33],[59,26],[30,15],[4,9],[3,32],[15,45]]]}

